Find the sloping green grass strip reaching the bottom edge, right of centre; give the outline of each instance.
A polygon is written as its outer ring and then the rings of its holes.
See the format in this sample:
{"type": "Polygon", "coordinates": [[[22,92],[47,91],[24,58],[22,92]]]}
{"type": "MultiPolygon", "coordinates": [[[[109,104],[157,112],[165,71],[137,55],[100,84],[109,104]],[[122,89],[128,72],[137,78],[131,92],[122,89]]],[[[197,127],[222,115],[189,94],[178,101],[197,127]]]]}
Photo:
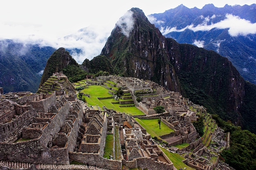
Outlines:
{"type": "Polygon", "coordinates": [[[191,168],[190,166],[187,166],[185,163],[182,162],[185,158],[180,156],[177,153],[172,153],[166,150],[165,148],[160,147],[161,150],[165,153],[165,155],[171,160],[173,163],[173,166],[178,170],[180,168],[186,168],[187,170],[195,170],[195,168],[191,168]]]}

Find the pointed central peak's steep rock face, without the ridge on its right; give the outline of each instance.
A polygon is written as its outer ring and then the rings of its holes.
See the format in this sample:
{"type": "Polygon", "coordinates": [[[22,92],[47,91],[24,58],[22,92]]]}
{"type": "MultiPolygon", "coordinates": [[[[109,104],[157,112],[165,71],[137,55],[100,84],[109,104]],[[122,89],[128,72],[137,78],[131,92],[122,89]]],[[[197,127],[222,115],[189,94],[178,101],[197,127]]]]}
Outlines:
{"type": "MultiPolygon", "coordinates": [[[[170,62],[166,38],[147,20],[144,13],[132,8],[133,29],[127,37],[116,25],[101,55],[110,57],[115,71],[124,76],[150,79],[172,91],[180,91],[170,62]]],[[[126,24],[128,27],[128,23],[126,24]]]]}

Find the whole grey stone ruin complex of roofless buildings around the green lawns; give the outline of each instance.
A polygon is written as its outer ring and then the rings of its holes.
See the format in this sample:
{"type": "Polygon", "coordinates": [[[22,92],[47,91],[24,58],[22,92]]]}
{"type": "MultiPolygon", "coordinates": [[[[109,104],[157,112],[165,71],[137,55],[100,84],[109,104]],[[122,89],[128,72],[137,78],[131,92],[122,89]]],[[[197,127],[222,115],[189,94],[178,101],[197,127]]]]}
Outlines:
{"type": "MultiPolygon", "coordinates": [[[[140,119],[160,117],[173,130],[170,134],[161,136],[161,139],[168,142],[169,150],[178,152],[179,149],[173,146],[190,144],[182,152],[193,149],[193,155],[186,155],[184,163],[200,170],[212,170],[216,167],[218,161],[213,165],[200,157],[212,155],[202,145],[202,140],[191,123],[197,118],[195,112],[189,109],[189,100],[180,93],[166,91],[154,82],[131,77],[108,76],[97,77],[96,80],[102,86],[105,86],[107,80],[111,80],[115,82],[113,87],[130,93],[132,104],[145,113],[140,119]],[[165,113],[156,114],[153,110],[155,106],[163,106],[165,113]]],[[[88,82],[88,85],[95,81],[88,82]]],[[[113,94],[111,88],[109,90],[113,94]]],[[[78,100],[75,93],[65,75],[54,73],[38,89],[37,94],[18,92],[2,95],[0,167],[58,169],[66,165],[65,169],[85,169],[92,166],[111,170],[121,170],[124,166],[148,170],[174,169],[173,163],[157,142],[153,141],[134,117],[117,113],[111,108],[94,109],[78,100]],[[103,158],[108,134],[119,137],[121,151],[113,147],[113,152],[121,152],[118,158],[115,154],[112,159],[103,158]],[[71,166],[72,161],[85,165],[71,166]],[[48,166],[43,166],[45,164],[48,166]]],[[[200,111],[206,112],[203,108],[200,111]]]]}

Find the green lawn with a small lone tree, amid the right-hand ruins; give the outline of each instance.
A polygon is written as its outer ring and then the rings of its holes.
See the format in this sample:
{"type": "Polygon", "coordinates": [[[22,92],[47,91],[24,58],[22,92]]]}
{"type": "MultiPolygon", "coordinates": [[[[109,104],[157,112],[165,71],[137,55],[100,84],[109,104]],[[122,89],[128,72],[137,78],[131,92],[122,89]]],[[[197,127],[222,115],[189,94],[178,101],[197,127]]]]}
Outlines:
{"type": "Polygon", "coordinates": [[[161,129],[159,129],[159,124],[157,123],[158,119],[135,118],[135,120],[147,130],[151,137],[159,137],[174,132],[174,130],[166,126],[163,122],[161,122],[161,129]]]}

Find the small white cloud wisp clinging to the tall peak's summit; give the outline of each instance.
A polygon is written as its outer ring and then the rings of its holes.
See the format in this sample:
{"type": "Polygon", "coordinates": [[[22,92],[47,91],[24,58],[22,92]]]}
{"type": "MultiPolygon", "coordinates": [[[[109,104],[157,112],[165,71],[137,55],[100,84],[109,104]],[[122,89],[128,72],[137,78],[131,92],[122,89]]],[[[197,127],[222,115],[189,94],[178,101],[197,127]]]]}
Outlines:
{"type": "Polygon", "coordinates": [[[129,37],[134,26],[132,14],[132,11],[127,11],[116,23],[116,26],[121,28],[121,33],[123,33],[126,37],[129,37]]]}

